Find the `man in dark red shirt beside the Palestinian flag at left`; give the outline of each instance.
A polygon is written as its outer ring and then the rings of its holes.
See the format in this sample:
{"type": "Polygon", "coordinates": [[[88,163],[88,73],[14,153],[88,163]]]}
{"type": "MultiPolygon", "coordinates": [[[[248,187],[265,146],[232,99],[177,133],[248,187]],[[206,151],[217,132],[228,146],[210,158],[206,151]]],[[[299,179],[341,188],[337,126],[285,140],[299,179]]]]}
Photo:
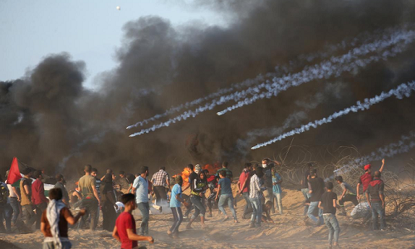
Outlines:
{"type": "Polygon", "coordinates": [[[36,229],[40,229],[42,213],[46,210],[49,200],[45,196],[42,171],[34,171],[33,176],[36,177],[36,180],[32,183],[32,203],[36,208],[36,229]]]}

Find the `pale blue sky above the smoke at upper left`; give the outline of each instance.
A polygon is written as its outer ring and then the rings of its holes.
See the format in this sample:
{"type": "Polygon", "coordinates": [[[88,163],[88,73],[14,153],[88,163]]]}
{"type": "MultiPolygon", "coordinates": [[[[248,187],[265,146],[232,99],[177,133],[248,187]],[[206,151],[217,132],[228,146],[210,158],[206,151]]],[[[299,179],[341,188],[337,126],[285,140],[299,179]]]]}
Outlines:
{"type": "Polygon", "coordinates": [[[213,10],[190,4],[190,0],[0,0],[0,81],[24,76],[48,54],[68,52],[74,60],[85,61],[84,86],[94,88],[94,77],[117,65],[114,54],[128,21],[156,15],[173,25],[191,21],[225,25],[213,10]]]}

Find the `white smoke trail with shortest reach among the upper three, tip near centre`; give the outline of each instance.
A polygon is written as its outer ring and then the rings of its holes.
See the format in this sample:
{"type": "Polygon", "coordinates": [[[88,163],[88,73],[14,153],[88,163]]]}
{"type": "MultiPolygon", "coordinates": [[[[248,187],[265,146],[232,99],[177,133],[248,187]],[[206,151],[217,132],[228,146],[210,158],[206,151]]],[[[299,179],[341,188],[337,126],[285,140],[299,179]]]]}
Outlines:
{"type": "Polygon", "coordinates": [[[217,112],[216,114],[219,116],[224,115],[225,113],[235,110],[239,107],[250,105],[256,102],[256,100],[276,97],[278,93],[285,91],[292,86],[299,86],[303,83],[307,83],[316,79],[329,78],[331,76],[338,77],[345,71],[356,70],[357,68],[366,66],[372,61],[378,61],[381,59],[386,59],[390,56],[395,56],[397,53],[402,52],[403,49],[405,49],[406,45],[413,42],[414,39],[414,31],[398,30],[386,39],[384,38],[373,43],[363,44],[360,47],[350,50],[349,53],[344,54],[343,56],[333,56],[328,61],[323,61],[318,65],[305,68],[303,71],[293,75],[289,74],[281,78],[273,78],[273,83],[262,83],[256,87],[248,88],[232,100],[238,101],[239,99],[244,98],[248,93],[252,94],[252,97],[245,98],[244,100],[239,101],[237,104],[227,107],[225,110],[217,112]],[[395,44],[398,44],[398,46],[391,49],[390,51],[385,51],[378,56],[371,56],[368,59],[359,59],[359,56],[364,56],[372,52],[380,52],[383,49],[387,49],[389,46],[395,44]],[[354,61],[354,63],[352,63],[352,61],[354,61]],[[262,88],[265,88],[267,91],[260,93],[262,88]]]}

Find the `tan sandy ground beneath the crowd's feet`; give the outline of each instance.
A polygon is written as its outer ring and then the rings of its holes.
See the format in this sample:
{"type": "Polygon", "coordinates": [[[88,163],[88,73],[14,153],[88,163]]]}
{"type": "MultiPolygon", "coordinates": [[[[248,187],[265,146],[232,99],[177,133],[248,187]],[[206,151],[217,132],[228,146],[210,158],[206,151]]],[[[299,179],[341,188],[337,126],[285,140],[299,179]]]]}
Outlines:
{"type": "MultiPolygon", "coordinates": [[[[245,201],[239,197],[237,215],[242,215],[245,201]]],[[[300,191],[284,190],[284,215],[271,215],[275,224],[263,224],[261,228],[249,229],[249,220],[239,219],[239,224],[232,220],[221,222],[223,216],[214,210],[213,217],[207,218],[207,229],[200,229],[200,223],[193,224],[193,230],[186,230],[185,220],[181,225],[180,239],[171,239],[166,231],[172,224],[171,215],[151,215],[150,235],[155,243],[140,242],[148,248],[327,248],[327,228],[325,225],[312,227],[305,225],[303,217],[303,195],[300,191]]],[[[352,207],[346,206],[350,211],[352,207]]],[[[228,211],[228,210],[227,210],[228,211]]],[[[138,212],[139,213],[139,212],[138,212]]],[[[230,214],[230,211],[228,212],[230,214]]],[[[135,215],[137,227],[139,215],[135,215]]],[[[337,216],[341,233],[341,248],[415,248],[415,234],[403,228],[388,227],[386,232],[373,232],[360,221],[337,216]]],[[[100,227],[102,223],[98,224],[100,227]]],[[[91,232],[70,230],[69,236],[73,248],[120,248],[120,244],[111,237],[111,233],[98,228],[91,232]]],[[[17,247],[41,248],[43,236],[40,231],[33,234],[0,234],[0,248],[17,247]]]]}

